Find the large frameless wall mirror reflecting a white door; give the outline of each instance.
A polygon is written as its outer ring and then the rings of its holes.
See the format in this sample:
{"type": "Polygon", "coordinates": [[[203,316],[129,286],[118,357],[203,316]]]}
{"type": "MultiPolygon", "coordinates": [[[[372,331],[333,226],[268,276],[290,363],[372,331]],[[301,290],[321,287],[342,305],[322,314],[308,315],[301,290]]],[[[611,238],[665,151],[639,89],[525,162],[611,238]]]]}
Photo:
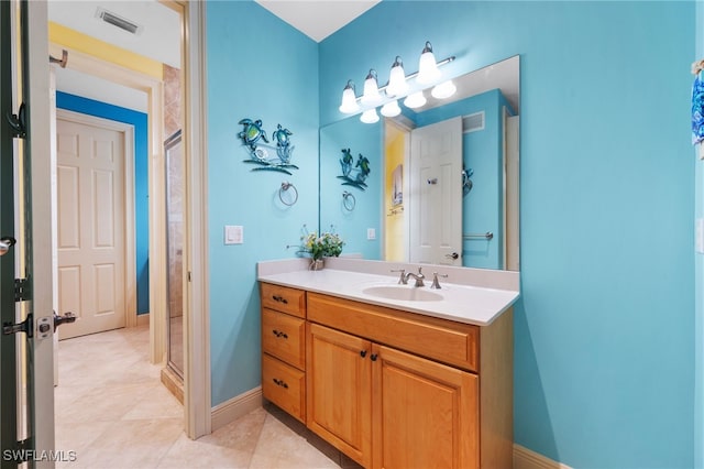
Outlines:
{"type": "Polygon", "coordinates": [[[320,129],[320,228],[365,259],[519,270],[519,56],[320,129]]]}

